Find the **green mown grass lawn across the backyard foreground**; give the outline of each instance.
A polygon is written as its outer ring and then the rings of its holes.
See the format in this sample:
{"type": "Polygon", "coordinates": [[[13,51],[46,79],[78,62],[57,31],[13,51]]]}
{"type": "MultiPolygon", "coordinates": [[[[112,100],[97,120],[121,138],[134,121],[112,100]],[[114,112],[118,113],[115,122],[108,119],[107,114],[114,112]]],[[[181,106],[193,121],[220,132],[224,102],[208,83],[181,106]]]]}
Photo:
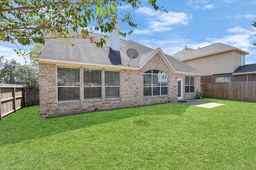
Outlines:
{"type": "Polygon", "coordinates": [[[167,103],[39,119],[26,107],[0,121],[0,169],[256,169],[256,103],[206,109],[167,103]]]}

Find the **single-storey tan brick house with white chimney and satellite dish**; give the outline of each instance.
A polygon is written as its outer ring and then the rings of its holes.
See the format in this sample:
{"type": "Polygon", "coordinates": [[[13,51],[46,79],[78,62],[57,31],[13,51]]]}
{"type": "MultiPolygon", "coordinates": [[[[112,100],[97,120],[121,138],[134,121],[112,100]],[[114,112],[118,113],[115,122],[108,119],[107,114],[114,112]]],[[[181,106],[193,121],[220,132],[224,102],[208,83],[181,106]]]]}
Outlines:
{"type": "Polygon", "coordinates": [[[160,48],[122,40],[115,31],[102,48],[82,35],[76,40],[74,47],[60,39],[42,45],[40,119],[187,100],[200,89],[203,74],[160,48]]]}

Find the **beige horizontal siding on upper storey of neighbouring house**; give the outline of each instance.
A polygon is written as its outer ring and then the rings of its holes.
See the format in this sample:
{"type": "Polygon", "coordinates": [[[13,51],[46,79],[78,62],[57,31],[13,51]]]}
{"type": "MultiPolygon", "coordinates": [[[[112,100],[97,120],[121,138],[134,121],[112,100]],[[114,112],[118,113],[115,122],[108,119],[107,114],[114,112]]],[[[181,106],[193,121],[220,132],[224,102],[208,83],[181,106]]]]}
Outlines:
{"type": "Polygon", "coordinates": [[[205,76],[212,74],[232,73],[235,67],[233,64],[232,51],[188,60],[187,64],[203,72],[205,76]]]}

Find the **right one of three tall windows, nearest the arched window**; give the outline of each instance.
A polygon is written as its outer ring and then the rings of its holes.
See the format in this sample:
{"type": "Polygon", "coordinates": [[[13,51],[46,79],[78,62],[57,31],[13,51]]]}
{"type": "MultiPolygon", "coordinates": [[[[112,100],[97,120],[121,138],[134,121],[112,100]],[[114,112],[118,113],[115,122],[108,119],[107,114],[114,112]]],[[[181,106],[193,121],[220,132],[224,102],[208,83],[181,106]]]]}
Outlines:
{"type": "Polygon", "coordinates": [[[105,70],[105,98],[120,98],[120,71],[105,70]]]}

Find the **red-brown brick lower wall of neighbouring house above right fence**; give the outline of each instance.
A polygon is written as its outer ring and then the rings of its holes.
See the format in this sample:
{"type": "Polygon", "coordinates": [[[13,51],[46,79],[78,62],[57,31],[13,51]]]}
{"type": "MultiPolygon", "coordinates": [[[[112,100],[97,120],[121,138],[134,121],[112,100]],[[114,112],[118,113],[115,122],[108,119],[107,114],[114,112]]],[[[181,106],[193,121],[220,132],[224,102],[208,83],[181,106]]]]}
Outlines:
{"type": "Polygon", "coordinates": [[[256,74],[241,74],[241,75],[232,75],[229,74],[213,74],[210,76],[201,76],[202,83],[215,82],[216,77],[231,77],[231,82],[246,82],[248,75],[248,81],[256,81],[256,74]]]}

